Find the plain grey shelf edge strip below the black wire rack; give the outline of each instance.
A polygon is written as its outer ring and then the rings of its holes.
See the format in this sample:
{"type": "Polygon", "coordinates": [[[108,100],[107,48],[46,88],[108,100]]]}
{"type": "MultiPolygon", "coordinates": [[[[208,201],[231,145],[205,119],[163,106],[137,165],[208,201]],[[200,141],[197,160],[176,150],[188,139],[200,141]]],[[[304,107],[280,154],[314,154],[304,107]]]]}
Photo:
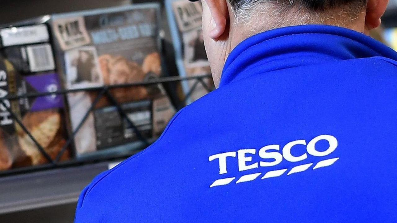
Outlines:
{"type": "Polygon", "coordinates": [[[0,178],[0,214],[69,204],[99,173],[119,161],[39,171],[0,178]]]}

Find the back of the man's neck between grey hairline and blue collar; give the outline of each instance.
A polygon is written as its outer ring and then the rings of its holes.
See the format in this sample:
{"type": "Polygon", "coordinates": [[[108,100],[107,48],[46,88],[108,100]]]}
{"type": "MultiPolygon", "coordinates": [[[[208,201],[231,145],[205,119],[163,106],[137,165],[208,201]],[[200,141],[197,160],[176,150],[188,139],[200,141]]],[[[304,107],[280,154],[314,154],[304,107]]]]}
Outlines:
{"type": "MultiPolygon", "coordinates": [[[[365,31],[365,12],[356,13],[356,16],[352,16],[351,13],[337,12],[337,10],[335,10],[335,12],[330,13],[330,15],[333,16],[326,16],[324,14],[302,12],[301,9],[289,9],[288,12],[283,11],[281,13],[279,6],[272,6],[271,3],[268,3],[266,7],[261,7],[261,9],[266,10],[244,16],[235,16],[233,13],[229,13],[230,17],[227,31],[216,40],[216,44],[219,45],[217,48],[222,50],[222,56],[218,58],[218,61],[214,65],[211,65],[216,86],[218,86],[220,81],[223,68],[223,66],[217,64],[219,62],[224,64],[230,52],[238,44],[258,33],[281,27],[307,24],[335,25],[352,29],[360,33],[364,33],[365,31]]],[[[229,8],[229,12],[231,11],[231,8],[229,8]]],[[[365,33],[367,34],[367,32],[365,33]]]]}

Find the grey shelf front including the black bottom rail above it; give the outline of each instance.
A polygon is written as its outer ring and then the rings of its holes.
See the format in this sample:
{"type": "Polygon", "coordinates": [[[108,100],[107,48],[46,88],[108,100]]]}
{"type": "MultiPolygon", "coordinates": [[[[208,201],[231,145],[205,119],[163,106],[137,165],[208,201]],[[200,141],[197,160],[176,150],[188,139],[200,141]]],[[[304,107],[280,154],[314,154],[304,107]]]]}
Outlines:
{"type": "MultiPolygon", "coordinates": [[[[156,138],[149,138],[151,144],[156,138]]],[[[41,171],[0,177],[0,215],[77,202],[81,190],[92,179],[116,166],[125,158],[145,148],[143,142],[132,142],[108,150],[80,156],[74,162],[58,167],[37,166],[41,171]],[[103,161],[104,157],[114,157],[103,161]],[[101,160],[94,163],[95,160],[101,160]],[[91,162],[91,163],[90,163],[91,162]],[[87,163],[87,164],[82,164],[87,163]]]]}

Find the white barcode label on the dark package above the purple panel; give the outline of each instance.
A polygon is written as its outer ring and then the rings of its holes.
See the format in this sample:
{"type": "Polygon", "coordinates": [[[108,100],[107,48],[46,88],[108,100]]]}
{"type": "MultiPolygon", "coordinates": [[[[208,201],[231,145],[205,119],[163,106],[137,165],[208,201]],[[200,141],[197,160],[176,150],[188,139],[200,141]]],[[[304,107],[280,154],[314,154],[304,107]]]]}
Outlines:
{"type": "Polygon", "coordinates": [[[54,70],[54,58],[50,44],[39,44],[27,47],[29,66],[32,72],[54,70]]]}

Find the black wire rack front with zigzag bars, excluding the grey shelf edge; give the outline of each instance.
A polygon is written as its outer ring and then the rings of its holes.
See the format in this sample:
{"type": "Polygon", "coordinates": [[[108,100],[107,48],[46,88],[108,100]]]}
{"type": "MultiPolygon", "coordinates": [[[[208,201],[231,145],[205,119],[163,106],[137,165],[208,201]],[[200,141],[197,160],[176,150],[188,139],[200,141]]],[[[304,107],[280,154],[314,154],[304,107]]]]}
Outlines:
{"type": "MultiPolygon", "coordinates": [[[[193,77],[179,77],[179,76],[172,76],[172,77],[162,77],[158,79],[151,79],[148,81],[144,82],[134,82],[134,83],[128,83],[128,84],[118,84],[118,85],[111,85],[111,86],[102,86],[102,87],[94,87],[94,88],[79,88],[79,89],[69,89],[69,90],[58,90],[55,92],[39,92],[39,93],[29,93],[29,94],[23,94],[23,95],[8,95],[6,97],[0,98],[0,105],[2,104],[7,108],[8,112],[12,115],[14,120],[21,126],[21,128],[25,131],[25,133],[35,142],[35,145],[37,146],[37,149],[42,153],[42,155],[47,158],[48,163],[43,164],[43,165],[35,165],[35,166],[28,166],[28,167],[18,167],[15,169],[8,169],[4,171],[0,171],[0,177],[7,176],[7,175],[13,175],[13,174],[24,174],[24,173],[29,173],[32,171],[39,171],[39,170],[45,170],[45,169],[50,169],[50,168],[63,168],[63,167],[68,167],[71,165],[80,165],[81,163],[87,163],[87,162],[92,162],[94,160],[108,160],[108,159],[114,159],[114,158],[119,158],[119,157],[127,157],[130,156],[131,154],[137,152],[138,150],[142,150],[149,146],[152,142],[156,140],[156,137],[154,138],[145,138],[141,135],[140,131],[135,127],[135,124],[133,123],[132,120],[130,120],[129,116],[123,111],[121,108],[119,102],[114,98],[112,93],[110,92],[110,89],[113,88],[123,88],[123,87],[132,87],[132,86],[146,86],[146,85],[156,85],[156,84],[164,84],[164,83],[172,83],[172,82],[181,82],[181,81],[195,81],[189,92],[186,94],[185,99],[181,100],[181,102],[177,102],[175,104],[175,107],[177,110],[182,108],[185,105],[185,101],[187,98],[190,97],[192,92],[197,88],[198,85],[202,85],[208,92],[212,90],[212,87],[208,87],[208,85],[203,81],[203,79],[208,79],[210,78],[211,75],[198,75],[198,76],[193,76],[193,77]],[[84,91],[99,91],[99,94],[96,96],[96,99],[94,100],[93,104],[89,108],[89,110],[85,113],[84,118],[81,120],[80,124],[76,127],[76,129],[73,131],[73,133],[70,134],[70,137],[67,139],[66,143],[64,146],[61,148],[59,154],[57,157],[51,158],[50,155],[48,155],[44,148],[37,142],[37,140],[31,135],[29,130],[23,125],[22,121],[14,114],[14,112],[8,108],[4,102],[4,100],[19,100],[21,98],[36,98],[40,96],[47,96],[47,95],[53,95],[53,94],[58,94],[58,95],[65,95],[71,92],[84,92],[84,91]],[[123,144],[120,146],[114,146],[112,148],[108,148],[105,150],[97,150],[96,152],[89,153],[89,154],[80,154],[76,157],[76,159],[71,159],[68,161],[60,161],[60,158],[62,157],[62,153],[66,151],[67,147],[73,143],[73,139],[75,136],[75,133],[79,130],[79,128],[83,125],[84,121],[89,115],[89,112],[91,112],[94,109],[94,105],[98,102],[99,98],[101,96],[107,96],[110,102],[118,108],[120,116],[124,117],[126,121],[129,122],[131,127],[134,129],[135,134],[137,135],[137,141],[131,142],[128,144],[123,144]]],[[[1,201],[1,200],[0,200],[1,201]]]]}

